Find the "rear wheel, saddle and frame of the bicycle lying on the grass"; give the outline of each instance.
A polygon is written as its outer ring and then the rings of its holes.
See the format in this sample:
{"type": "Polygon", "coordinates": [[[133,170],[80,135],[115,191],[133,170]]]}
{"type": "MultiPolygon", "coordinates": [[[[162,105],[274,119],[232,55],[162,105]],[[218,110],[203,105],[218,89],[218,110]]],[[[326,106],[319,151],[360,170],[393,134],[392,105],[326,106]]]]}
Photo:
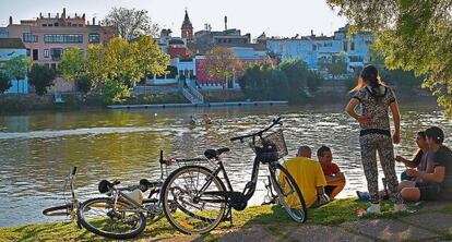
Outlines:
{"type": "Polygon", "coordinates": [[[80,223],[90,232],[109,239],[127,240],[140,234],[147,221],[156,221],[164,217],[158,199],[158,193],[164,180],[164,165],[170,166],[163,159],[160,150],[160,179],[150,182],[140,180],[140,185],[132,191],[131,187],[117,187],[120,181],[109,182],[103,180],[98,190],[106,197],[91,198],[82,203],[78,209],[80,223]],[[142,192],[150,190],[147,198],[142,198],[142,192]],[[156,195],[156,196],[154,196],[156,195]]]}

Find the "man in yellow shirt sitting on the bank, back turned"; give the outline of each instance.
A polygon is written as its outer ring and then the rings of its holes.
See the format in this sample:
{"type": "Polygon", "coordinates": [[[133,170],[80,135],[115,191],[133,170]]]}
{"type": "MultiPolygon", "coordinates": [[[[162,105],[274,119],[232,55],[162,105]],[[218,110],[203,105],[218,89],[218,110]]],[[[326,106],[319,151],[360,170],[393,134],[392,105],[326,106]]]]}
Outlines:
{"type": "Polygon", "coordinates": [[[311,149],[308,146],[300,146],[297,157],[286,160],[284,165],[297,182],[307,207],[329,202],[323,190],[326,181],[322,167],[319,161],[311,159],[311,149]]]}

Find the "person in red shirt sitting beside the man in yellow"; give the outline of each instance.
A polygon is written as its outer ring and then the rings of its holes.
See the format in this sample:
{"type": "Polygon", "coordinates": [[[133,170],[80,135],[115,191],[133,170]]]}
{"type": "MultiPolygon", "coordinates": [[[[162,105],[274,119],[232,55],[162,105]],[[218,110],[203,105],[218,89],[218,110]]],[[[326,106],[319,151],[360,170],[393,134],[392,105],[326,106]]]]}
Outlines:
{"type": "Polygon", "coordinates": [[[333,199],[345,186],[345,176],[341,172],[337,165],[333,164],[333,154],[326,146],[317,150],[317,157],[322,166],[323,174],[326,179],[325,193],[333,199]]]}

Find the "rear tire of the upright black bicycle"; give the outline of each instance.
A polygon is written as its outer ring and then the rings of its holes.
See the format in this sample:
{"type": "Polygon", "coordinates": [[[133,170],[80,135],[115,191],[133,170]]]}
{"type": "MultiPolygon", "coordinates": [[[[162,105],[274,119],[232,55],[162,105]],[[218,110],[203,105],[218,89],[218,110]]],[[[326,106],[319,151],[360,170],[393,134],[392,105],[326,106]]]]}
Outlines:
{"type": "MultiPolygon", "coordinates": [[[[202,174],[204,174],[205,177],[211,177],[211,174],[213,173],[210,169],[205,168],[205,167],[201,167],[201,166],[186,166],[186,167],[181,167],[177,170],[175,170],[174,172],[171,172],[168,178],[166,179],[164,185],[162,186],[162,192],[160,192],[160,201],[163,204],[163,208],[164,208],[164,214],[167,218],[167,220],[169,221],[169,223],[171,223],[171,226],[174,228],[176,228],[177,230],[179,230],[182,233],[187,233],[187,234],[194,234],[194,233],[207,233],[210,231],[212,231],[213,229],[215,229],[218,223],[221,221],[223,221],[223,218],[225,216],[226,209],[227,209],[227,199],[226,199],[226,195],[224,195],[224,202],[219,202],[217,204],[219,204],[219,209],[217,213],[217,216],[214,220],[212,220],[211,218],[207,217],[203,217],[203,215],[197,215],[195,213],[190,211],[189,209],[187,209],[186,207],[182,207],[179,205],[175,205],[175,203],[177,204],[178,199],[173,197],[169,198],[169,193],[171,191],[171,184],[175,182],[175,180],[179,177],[181,177],[185,173],[189,173],[189,172],[200,172],[202,174]],[[188,216],[188,219],[193,219],[193,220],[199,220],[199,221],[209,221],[210,225],[203,228],[190,228],[190,226],[187,226],[188,221],[185,220],[182,222],[178,221],[178,218],[176,218],[176,214],[177,210],[180,210],[183,215],[188,216]]],[[[218,178],[215,177],[212,180],[212,183],[216,185],[216,187],[218,189],[217,194],[226,194],[226,186],[223,183],[223,181],[218,178]]],[[[194,207],[194,206],[193,206],[194,207]]],[[[207,210],[209,211],[209,210],[207,210]]],[[[194,225],[197,225],[195,222],[193,222],[194,225]]],[[[198,223],[199,225],[199,223],[198,223]]]]}

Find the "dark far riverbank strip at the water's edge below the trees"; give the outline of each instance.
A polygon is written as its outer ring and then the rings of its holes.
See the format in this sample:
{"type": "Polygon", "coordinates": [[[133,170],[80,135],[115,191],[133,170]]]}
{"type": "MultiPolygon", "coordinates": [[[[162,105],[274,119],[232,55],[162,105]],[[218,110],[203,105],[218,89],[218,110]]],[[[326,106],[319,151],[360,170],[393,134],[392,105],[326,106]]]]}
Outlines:
{"type": "MultiPolygon", "coordinates": [[[[345,105],[352,97],[345,87],[331,86],[319,89],[312,97],[304,98],[300,102],[289,105],[345,105]]],[[[431,102],[436,105],[436,98],[426,90],[396,89],[401,105],[409,102],[431,102]]],[[[240,90],[215,90],[204,92],[205,104],[212,102],[240,102],[249,101],[240,90]]],[[[36,111],[78,111],[78,110],[100,110],[107,109],[99,97],[87,96],[79,93],[62,94],[62,104],[55,104],[53,95],[0,95],[0,113],[28,113],[36,111]]],[[[263,100],[265,101],[265,100],[263,100]]],[[[118,105],[168,105],[189,102],[180,94],[147,94],[138,95],[118,105]]],[[[210,107],[206,105],[206,107],[210,107]]]]}

